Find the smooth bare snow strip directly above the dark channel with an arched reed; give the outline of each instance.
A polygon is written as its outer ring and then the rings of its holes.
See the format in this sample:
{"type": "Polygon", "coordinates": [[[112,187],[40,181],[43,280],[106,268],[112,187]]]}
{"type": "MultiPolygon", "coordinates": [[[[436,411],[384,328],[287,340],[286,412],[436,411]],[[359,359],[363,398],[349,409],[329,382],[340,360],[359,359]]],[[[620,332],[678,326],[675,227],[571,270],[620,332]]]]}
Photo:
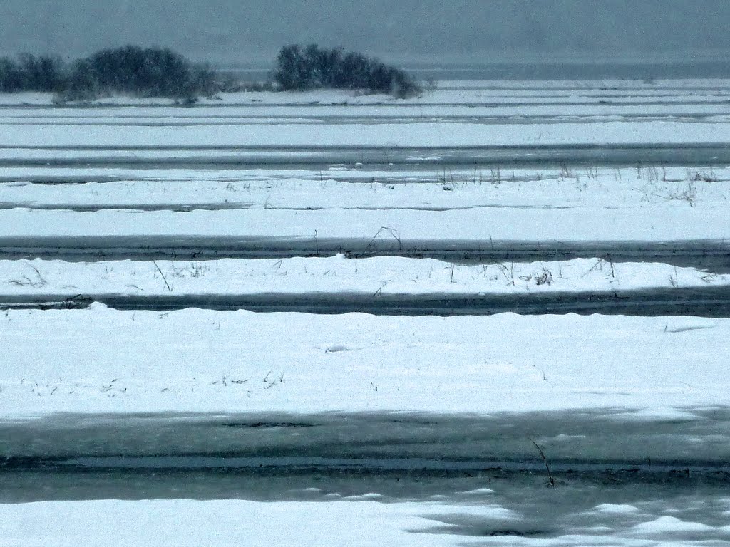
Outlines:
{"type": "Polygon", "coordinates": [[[136,238],[180,236],[258,240],[356,239],[393,248],[418,241],[442,241],[488,249],[490,241],[730,241],[727,207],[645,209],[485,209],[463,211],[226,210],[176,213],[155,211],[66,212],[11,209],[0,211],[0,238],[136,238]]]}

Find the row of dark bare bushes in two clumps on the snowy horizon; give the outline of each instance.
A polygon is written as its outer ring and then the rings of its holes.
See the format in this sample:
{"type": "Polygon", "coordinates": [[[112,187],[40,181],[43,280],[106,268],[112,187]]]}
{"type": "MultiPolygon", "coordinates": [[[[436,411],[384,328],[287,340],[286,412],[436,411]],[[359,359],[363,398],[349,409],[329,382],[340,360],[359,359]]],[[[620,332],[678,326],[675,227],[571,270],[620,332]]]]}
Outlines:
{"type": "MultiPolygon", "coordinates": [[[[101,50],[66,62],[54,55],[24,53],[0,57],[0,92],[43,91],[60,101],[90,101],[100,96],[131,95],[194,101],[237,88],[204,63],[193,63],[167,48],[128,45],[101,50]]],[[[239,86],[242,88],[242,86],[239,86]]],[[[335,88],[390,93],[404,98],[421,88],[406,72],[360,53],[316,44],[288,45],[276,58],[269,88],[335,88]]]]}

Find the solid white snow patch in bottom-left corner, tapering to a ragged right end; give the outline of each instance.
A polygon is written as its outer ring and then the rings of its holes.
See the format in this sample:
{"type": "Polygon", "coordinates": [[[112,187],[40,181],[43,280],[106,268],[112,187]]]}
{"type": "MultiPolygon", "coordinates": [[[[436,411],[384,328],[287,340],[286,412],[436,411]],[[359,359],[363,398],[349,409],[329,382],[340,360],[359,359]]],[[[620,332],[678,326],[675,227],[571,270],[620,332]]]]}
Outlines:
{"type": "Polygon", "coordinates": [[[454,514],[487,519],[507,516],[509,520],[507,511],[483,505],[367,500],[31,503],[0,505],[0,545],[440,547],[475,543],[476,538],[424,533],[442,524],[440,516],[454,514]]]}

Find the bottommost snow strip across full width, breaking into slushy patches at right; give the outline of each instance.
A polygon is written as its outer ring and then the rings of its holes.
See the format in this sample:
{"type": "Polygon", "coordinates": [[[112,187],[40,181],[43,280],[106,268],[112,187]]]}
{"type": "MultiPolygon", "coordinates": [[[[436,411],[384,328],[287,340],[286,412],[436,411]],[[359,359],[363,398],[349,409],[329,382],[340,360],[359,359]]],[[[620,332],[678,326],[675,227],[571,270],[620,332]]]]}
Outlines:
{"type": "Polygon", "coordinates": [[[717,522],[728,500],[702,497],[691,500],[699,502],[691,509],[681,499],[602,503],[558,513],[553,519],[526,512],[529,503],[516,510],[504,508],[499,505],[503,500],[488,492],[477,496],[485,498],[478,504],[382,503],[374,500],[375,494],[332,497],[335,500],[285,503],[105,500],[0,505],[0,545],[699,547],[730,540],[730,526],[717,522]],[[707,520],[713,523],[705,524],[707,520]],[[556,526],[566,521],[570,532],[556,526]]]}

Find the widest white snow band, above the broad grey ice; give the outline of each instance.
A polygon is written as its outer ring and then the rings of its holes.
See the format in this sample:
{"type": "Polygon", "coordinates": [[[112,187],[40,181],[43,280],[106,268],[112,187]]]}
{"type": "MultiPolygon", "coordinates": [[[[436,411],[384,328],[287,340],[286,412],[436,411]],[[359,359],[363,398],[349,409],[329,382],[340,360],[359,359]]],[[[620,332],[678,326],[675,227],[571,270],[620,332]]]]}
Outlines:
{"type": "Polygon", "coordinates": [[[7,418],[570,408],[675,416],[725,405],[729,389],[727,319],[156,313],[94,304],[6,311],[0,325],[7,418]]]}

